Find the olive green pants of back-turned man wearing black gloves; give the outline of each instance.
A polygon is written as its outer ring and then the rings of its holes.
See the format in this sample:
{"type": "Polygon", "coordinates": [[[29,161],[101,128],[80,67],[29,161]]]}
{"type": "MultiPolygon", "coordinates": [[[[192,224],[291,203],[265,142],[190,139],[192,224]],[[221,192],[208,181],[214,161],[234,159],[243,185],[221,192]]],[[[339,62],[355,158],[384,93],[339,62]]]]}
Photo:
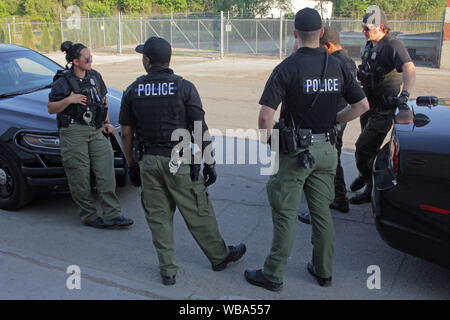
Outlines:
{"type": "Polygon", "coordinates": [[[222,263],[229,253],[220,235],[203,177],[199,175],[198,181],[192,181],[187,164],[182,164],[177,174],[172,175],[169,161],[169,157],[144,155],[139,163],[142,206],[163,276],[173,276],[178,270],[173,248],[176,207],[212,265],[222,263]]]}

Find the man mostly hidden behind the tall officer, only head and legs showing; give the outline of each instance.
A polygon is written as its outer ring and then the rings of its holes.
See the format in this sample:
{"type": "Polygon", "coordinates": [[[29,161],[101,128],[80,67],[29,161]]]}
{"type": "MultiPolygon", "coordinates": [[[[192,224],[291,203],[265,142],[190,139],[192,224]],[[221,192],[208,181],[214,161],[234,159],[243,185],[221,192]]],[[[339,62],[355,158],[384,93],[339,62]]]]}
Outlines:
{"type": "MultiPolygon", "coordinates": [[[[320,46],[325,48],[329,54],[335,57],[343,68],[350,70],[353,77],[356,79],[356,64],[352,58],[347,54],[347,51],[342,48],[339,32],[333,27],[325,27],[323,36],[320,38],[320,46]]],[[[347,106],[344,98],[340,98],[338,102],[338,111],[343,110],[347,106]]],[[[336,168],[336,177],[334,179],[334,201],[330,208],[338,210],[343,213],[349,212],[349,201],[347,198],[347,187],[345,186],[344,169],[341,164],[342,151],[342,137],[347,123],[338,123],[336,125],[336,148],[338,151],[338,165],[336,168]]],[[[300,212],[298,219],[303,223],[310,223],[309,212],[300,212]]]]}

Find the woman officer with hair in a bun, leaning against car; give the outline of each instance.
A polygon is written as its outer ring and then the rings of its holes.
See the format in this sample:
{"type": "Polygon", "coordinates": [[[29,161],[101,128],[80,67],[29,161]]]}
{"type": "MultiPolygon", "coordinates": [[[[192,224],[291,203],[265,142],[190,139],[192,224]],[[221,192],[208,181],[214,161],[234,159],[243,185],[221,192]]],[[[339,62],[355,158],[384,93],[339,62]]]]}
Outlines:
{"type": "Polygon", "coordinates": [[[104,136],[114,132],[109,123],[105,83],[91,68],[92,55],[83,44],[66,41],[61,50],[66,52],[66,70],[55,77],[47,107],[50,114],[57,113],[62,162],[81,221],[95,228],[130,226],[133,220],[121,215],[115,193],[113,151],[104,136]],[[103,218],[97,215],[91,192],[91,168],[103,218]]]}

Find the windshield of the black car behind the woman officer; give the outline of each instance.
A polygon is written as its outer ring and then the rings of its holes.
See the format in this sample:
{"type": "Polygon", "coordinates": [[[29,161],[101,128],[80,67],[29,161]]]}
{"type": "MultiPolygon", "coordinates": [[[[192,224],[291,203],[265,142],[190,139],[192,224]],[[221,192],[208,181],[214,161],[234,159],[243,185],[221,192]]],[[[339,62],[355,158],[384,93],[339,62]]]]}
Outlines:
{"type": "Polygon", "coordinates": [[[0,95],[49,86],[61,67],[34,51],[0,53],[0,95]]]}

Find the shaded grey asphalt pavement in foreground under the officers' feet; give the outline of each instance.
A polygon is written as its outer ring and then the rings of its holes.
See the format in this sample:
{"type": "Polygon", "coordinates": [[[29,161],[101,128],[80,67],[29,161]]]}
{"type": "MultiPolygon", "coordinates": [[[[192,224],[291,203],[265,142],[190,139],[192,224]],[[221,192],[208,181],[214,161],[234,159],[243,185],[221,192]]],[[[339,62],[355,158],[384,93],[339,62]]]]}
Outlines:
{"type": "MultiPolygon", "coordinates": [[[[235,159],[242,156],[236,154],[235,159]]],[[[353,150],[344,150],[342,162],[350,184],[357,174],[353,150]]],[[[135,221],[123,230],[83,226],[68,195],[36,199],[15,212],[0,210],[0,299],[450,298],[450,270],[390,248],[376,231],[370,204],[352,205],[348,214],[332,210],[336,239],[331,287],[319,287],[306,270],[311,227],[300,222],[283,291],[247,283],[244,270],[262,267],[272,241],[268,176],[260,174],[261,167],[219,164],[219,178],[209,188],[226,243],[247,245],[246,255],[224,271],[211,269],[177,211],[175,254],[180,269],[174,286],[161,283],[139,190],[131,185],[118,189],[123,214],[135,221]],[[68,272],[70,266],[79,269],[79,278],[68,272]],[[379,289],[373,288],[373,266],[379,268],[379,289]]],[[[304,197],[300,209],[307,209],[304,197]]]]}

